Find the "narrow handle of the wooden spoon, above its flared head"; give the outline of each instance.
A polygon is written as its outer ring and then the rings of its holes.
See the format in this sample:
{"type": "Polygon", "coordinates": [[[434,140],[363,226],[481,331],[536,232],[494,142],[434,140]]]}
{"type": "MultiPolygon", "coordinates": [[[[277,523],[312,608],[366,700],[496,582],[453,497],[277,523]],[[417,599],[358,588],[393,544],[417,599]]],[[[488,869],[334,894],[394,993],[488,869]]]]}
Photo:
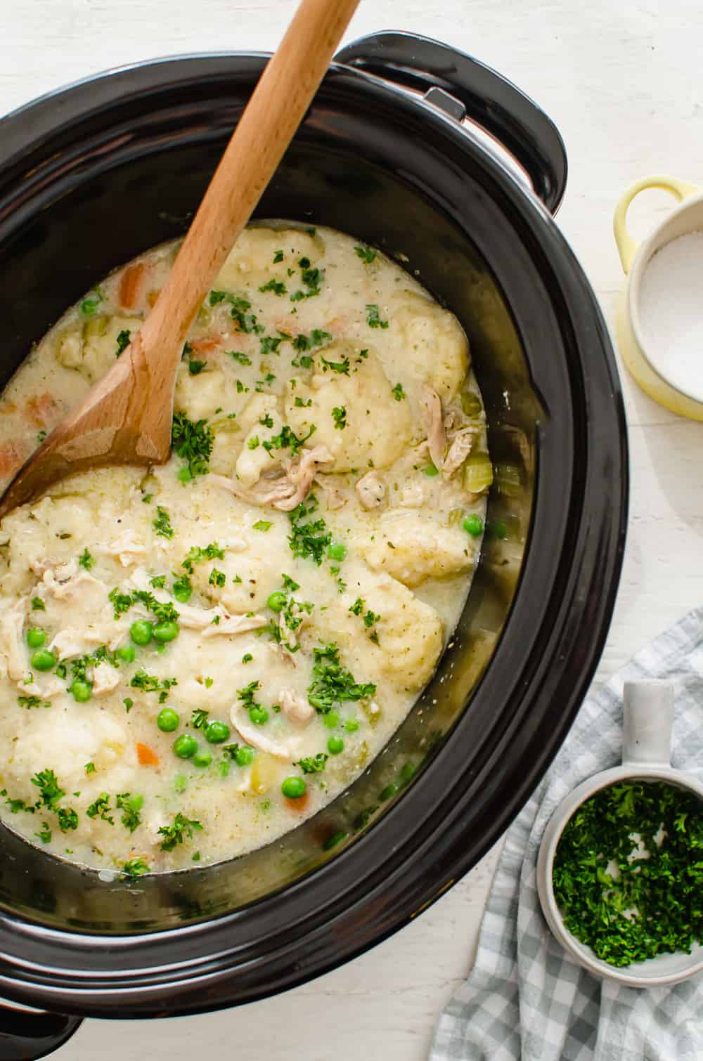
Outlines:
{"type": "MultiPolygon", "coordinates": [[[[261,198],[324,77],[359,0],[302,0],[269,60],[141,328],[170,383],[186,333],[237,237],[261,198]]],[[[158,369],[156,369],[158,371],[158,369]]]]}

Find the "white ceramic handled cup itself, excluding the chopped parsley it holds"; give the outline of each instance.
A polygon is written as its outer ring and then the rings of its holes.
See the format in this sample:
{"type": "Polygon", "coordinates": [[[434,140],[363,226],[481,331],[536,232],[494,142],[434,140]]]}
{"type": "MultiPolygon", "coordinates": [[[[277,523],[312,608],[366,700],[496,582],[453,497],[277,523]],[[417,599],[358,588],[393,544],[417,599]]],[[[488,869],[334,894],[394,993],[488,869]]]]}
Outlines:
{"type": "Polygon", "coordinates": [[[597,958],[589,946],[564,927],[554,889],[554,853],[564,829],[578,806],[601,788],[618,781],[665,781],[686,788],[703,800],[703,785],[696,778],[674,770],[670,761],[673,723],[673,686],[666,681],[627,682],[624,686],[624,732],[622,765],[594,775],[575,788],[551,816],[537,857],[537,891],[547,923],[572,958],[596,976],[617,980],[632,988],[678,984],[703,970],[703,946],[691,954],[661,954],[624,968],[597,958]]]}

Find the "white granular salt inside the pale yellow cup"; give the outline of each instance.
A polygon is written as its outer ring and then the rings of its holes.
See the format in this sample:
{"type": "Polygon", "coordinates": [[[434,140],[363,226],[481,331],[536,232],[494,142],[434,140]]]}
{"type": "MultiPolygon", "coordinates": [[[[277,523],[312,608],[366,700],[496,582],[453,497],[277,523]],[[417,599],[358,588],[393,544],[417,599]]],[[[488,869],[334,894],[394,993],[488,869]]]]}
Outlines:
{"type": "Polygon", "coordinates": [[[642,276],[639,316],[653,367],[676,389],[703,394],[703,232],[656,251],[642,276]]]}

